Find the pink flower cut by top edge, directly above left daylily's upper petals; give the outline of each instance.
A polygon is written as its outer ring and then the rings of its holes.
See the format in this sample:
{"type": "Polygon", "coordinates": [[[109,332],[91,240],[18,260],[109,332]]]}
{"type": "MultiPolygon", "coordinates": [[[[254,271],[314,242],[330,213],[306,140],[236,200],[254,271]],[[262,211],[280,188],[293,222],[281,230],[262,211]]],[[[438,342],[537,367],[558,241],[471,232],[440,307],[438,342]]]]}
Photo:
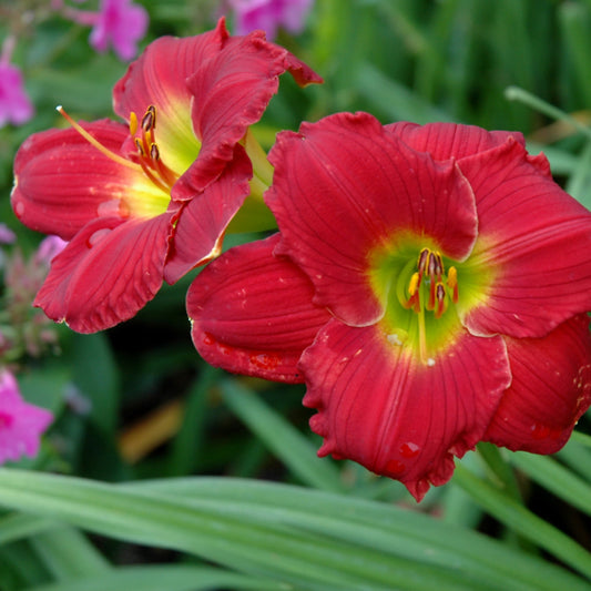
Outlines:
{"type": "Polygon", "coordinates": [[[236,34],[246,34],[256,29],[263,29],[268,39],[274,39],[279,27],[284,27],[292,33],[299,33],[313,1],[230,0],[230,6],[236,14],[236,34]]]}

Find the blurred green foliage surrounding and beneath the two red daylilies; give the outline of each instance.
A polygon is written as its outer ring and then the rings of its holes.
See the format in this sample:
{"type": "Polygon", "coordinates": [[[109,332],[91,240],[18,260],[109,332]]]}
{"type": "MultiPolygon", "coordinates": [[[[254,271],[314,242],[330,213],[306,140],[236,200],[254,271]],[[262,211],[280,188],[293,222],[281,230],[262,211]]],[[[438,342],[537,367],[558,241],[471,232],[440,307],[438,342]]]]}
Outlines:
{"type": "MultiPolygon", "coordinates": [[[[48,3],[18,2],[37,16],[48,3]]],[[[215,23],[213,1],[143,4],[144,44],[215,23]]],[[[9,204],[17,147],[63,125],[57,104],[113,116],[126,68],[47,17],[22,28],[14,55],[37,115],[0,130],[0,216],[29,252],[41,236],[9,204]]],[[[356,110],[517,130],[589,206],[590,31],[589,0],[317,0],[305,31],[278,42],[325,84],[285,77],[257,134],[268,147],[282,129],[356,110]]],[[[552,458],[480,447],[416,506],[398,482],[316,457],[303,388],[200,359],[184,310],[194,275],[133,320],[89,336],[62,327],[60,355],[26,359],[23,394],[58,420],[35,461],[0,469],[0,589],[591,588],[588,417],[552,458]],[[88,412],[68,401],[74,390],[88,412]]]]}

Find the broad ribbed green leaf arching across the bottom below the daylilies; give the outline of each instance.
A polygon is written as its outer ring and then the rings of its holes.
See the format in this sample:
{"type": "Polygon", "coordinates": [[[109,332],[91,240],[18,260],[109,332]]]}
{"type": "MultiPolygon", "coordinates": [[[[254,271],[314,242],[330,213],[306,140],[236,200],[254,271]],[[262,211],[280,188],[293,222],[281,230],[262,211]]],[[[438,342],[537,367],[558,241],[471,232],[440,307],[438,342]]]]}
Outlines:
{"type": "Polygon", "coordinates": [[[0,505],[298,589],[588,589],[427,516],[285,485],[193,478],[122,487],[4,468],[0,505]]]}

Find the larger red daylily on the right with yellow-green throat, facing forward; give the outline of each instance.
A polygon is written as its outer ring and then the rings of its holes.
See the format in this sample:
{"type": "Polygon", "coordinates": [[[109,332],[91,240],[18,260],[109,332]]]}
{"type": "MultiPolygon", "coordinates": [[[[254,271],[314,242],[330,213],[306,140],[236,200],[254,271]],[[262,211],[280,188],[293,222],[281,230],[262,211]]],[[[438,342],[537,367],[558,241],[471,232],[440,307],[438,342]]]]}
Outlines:
{"type": "Polygon", "coordinates": [[[279,134],[279,234],[187,295],[206,360],[305,381],[320,456],[417,500],[478,441],[557,451],[591,403],[591,214],[518,133],[337,114],[279,134]]]}

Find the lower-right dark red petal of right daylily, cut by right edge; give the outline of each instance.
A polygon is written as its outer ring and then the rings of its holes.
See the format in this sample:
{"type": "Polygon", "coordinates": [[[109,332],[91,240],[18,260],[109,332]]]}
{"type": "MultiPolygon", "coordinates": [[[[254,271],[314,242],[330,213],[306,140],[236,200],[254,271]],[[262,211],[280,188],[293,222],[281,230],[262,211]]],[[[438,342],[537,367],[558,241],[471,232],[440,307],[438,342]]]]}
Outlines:
{"type": "Polygon", "coordinates": [[[506,338],[513,380],[485,440],[554,454],[591,405],[589,318],[567,320],[543,338],[506,338]]]}

